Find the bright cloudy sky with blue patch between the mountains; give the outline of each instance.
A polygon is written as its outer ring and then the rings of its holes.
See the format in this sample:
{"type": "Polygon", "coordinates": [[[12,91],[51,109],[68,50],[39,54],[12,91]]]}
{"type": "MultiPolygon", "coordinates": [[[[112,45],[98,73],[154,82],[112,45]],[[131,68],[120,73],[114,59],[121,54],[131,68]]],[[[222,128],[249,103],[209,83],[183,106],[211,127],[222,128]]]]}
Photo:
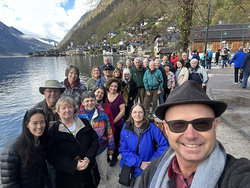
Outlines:
{"type": "Polygon", "coordinates": [[[0,0],[0,21],[38,38],[60,42],[98,0],[0,0]]]}

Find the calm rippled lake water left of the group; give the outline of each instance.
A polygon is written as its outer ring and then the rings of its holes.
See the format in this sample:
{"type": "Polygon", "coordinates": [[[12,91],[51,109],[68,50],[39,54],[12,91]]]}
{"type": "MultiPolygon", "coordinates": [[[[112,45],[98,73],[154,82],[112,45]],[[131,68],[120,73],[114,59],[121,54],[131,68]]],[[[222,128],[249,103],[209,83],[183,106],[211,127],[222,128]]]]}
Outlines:
{"type": "MultiPolygon", "coordinates": [[[[110,57],[113,65],[118,60],[125,60],[125,57],[110,57]]],[[[44,86],[46,80],[63,81],[70,64],[79,67],[80,79],[85,83],[92,67],[103,64],[103,57],[0,58],[0,152],[20,134],[25,111],[44,99],[39,87],[44,86]]]]}

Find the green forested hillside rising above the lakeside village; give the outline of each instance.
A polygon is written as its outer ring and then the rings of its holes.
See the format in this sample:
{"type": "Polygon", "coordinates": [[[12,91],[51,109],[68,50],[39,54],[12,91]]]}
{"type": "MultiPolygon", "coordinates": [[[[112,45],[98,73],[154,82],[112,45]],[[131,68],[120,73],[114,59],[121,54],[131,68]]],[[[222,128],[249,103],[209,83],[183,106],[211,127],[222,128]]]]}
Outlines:
{"type": "MultiPolygon", "coordinates": [[[[129,40],[124,32],[128,27],[149,19],[147,28],[150,36],[166,32],[167,27],[177,26],[181,45],[189,42],[190,28],[207,22],[208,0],[101,0],[95,10],[82,21],[80,27],[64,39],[59,47],[65,49],[71,41],[74,45],[86,41],[99,42],[108,38],[109,31],[117,35],[108,39],[117,43],[121,38],[129,40]],[[160,24],[154,24],[154,17],[162,17],[160,24]],[[95,34],[95,37],[91,36],[95,34]]],[[[211,0],[210,24],[250,22],[249,0],[211,0]]],[[[159,22],[159,21],[158,21],[159,22]]]]}

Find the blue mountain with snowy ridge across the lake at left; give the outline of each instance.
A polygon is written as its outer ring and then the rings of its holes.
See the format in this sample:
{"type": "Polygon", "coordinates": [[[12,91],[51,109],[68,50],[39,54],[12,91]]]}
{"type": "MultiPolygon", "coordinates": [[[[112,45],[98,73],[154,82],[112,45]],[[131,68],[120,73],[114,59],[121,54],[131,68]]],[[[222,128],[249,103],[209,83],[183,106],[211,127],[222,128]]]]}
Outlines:
{"type": "Polygon", "coordinates": [[[25,35],[14,27],[8,27],[0,22],[0,56],[28,55],[29,52],[51,49],[48,39],[36,39],[25,35]]]}

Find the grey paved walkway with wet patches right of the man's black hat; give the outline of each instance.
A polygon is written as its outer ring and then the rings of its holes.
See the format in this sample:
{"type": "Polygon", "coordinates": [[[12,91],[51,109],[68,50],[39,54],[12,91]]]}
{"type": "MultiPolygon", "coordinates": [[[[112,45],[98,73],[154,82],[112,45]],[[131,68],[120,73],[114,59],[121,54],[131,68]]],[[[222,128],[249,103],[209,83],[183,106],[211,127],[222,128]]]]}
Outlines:
{"type": "Polygon", "coordinates": [[[233,67],[212,67],[208,73],[208,95],[228,104],[222,118],[250,141],[250,90],[234,84],[233,67]]]}

